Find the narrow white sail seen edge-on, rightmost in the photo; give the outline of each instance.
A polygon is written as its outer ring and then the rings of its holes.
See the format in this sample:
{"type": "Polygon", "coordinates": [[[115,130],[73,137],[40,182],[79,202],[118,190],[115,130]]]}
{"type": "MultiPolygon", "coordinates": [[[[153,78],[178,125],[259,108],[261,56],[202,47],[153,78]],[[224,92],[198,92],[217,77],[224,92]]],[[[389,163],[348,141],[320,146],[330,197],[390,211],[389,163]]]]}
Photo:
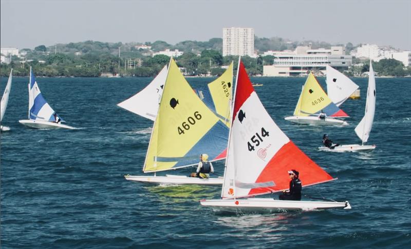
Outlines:
{"type": "Polygon", "coordinates": [[[355,131],[357,136],[364,142],[368,141],[369,133],[374,121],[374,114],[376,111],[376,79],[374,76],[374,70],[372,64],[369,64],[369,76],[368,76],[368,89],[367,100],[365,104],[365,114],[363,119],[356,127],[355,131]]]}

